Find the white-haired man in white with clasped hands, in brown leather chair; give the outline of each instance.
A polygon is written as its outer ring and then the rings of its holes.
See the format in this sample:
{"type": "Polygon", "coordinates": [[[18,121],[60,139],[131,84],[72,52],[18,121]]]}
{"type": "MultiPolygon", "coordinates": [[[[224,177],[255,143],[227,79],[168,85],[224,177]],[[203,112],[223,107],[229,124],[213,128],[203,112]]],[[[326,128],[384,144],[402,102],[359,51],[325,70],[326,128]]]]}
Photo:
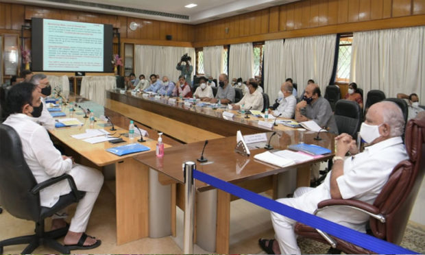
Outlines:
{"type": "MultiPolygon", "coordinates": [[[[367,111],[360,130],[361,137],[369,146],[356,154],[356,142],[350,135],[337,136],[334,164],[325,181],[317,188],[300,188],[293,198],[277,201],[306,213],[313,213],[319,202],[330,198],[357,199],[373,204],[393,168],[409,158],[401,138],[403,130],[404,117],[396,104],[391,101],[374,104],[367,111]],[[356,155],[344,160],[348,151],[356,155]]],[[[369,220],[368,215],[347,208],[329,209],[317,216],[361,232],[365,232],[365,223],[369,220]]],[[[274,254],[300,254],[293,231],[296,222],[278,213],[271,213],[271,221],[276,241],[260,239],[263,250],[274,254]]]]}

